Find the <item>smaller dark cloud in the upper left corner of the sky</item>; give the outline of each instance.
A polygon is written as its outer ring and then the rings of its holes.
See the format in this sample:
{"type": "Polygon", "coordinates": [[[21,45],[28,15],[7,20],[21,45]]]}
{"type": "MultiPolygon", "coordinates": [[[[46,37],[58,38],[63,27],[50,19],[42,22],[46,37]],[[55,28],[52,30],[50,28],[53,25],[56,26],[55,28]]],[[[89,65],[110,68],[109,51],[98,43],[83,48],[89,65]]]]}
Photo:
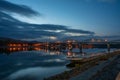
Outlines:
{"type": "Polygon", "coordinates": [[[23,16],[39,15],[38,12],[32,10],[28,6],[10,3],[6,0],[0,0],[0,11],[4,11],[8,13],[16,13],[23,16]]]}

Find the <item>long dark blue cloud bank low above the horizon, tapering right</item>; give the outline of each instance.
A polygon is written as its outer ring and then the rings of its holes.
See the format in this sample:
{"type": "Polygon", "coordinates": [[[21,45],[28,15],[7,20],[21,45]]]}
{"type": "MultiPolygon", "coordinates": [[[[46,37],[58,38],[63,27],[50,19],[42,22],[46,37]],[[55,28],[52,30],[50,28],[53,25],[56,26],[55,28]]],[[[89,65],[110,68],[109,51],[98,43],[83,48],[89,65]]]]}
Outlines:
{"type": "Polygon", "coordinates": [[[0,34],[0,37],[44,41],[48,40],[50,36],[62,39],[70,36],[81,36],[78,34],[94,35],[94,32],[69,29],[68,26],[63,25],[29,24],[0,12],[0,34]]]}

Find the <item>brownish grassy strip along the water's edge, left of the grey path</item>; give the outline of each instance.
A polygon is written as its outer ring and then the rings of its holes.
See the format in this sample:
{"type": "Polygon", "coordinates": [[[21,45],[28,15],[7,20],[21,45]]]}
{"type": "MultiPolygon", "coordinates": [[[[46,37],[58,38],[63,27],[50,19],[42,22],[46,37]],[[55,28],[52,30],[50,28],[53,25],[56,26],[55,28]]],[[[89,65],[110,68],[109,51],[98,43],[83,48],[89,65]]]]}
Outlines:
{"type": "MultiPolygon", "coordinates": [[[[90,57],[90,58],[71,61],[72,65],[74,65],[74,68],[72,68],[69,71],[64,71],[64,72],[62,72],[60,74],[56,74],[54,76],[45,78],[44,80],[72,80],[72,79],[75,80],[74,77],[81,75],[86,70],[89,70],[90,68],[93,68],[93,67],[95,67],[97,65],[100,65],[104,61],[109,61],[109,59],[111,59],[111,58],[113,58],[115,56],[118,56],[118,55],[120,55],[119,50],[111,52],[111,53],[106,53],[106,54],[90,57]]],[[[114,59],[111,60],[108,63],[108,65],[112,61],[114,61],[114,59]]],[[[104,67],[106,67],[106,66],[107,65],[105,65],[104,67]]],[[[96,74],[92,75],[91,77],[93,77],[95,75],[96,74]]]]}

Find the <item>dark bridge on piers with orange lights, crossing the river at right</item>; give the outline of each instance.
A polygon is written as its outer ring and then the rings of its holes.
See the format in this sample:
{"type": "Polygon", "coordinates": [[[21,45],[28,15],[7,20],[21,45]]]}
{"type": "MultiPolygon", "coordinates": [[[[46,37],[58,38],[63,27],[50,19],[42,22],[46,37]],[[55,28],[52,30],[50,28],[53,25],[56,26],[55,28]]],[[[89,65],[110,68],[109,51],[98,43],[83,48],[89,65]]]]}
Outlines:
{"type": "Polygon", "coordinates": [[[68,50],[72,51],[74,48],[78,48],[80,53],[83,53],[83,49],[86,48],[107,48],[108,53],[110,48],[120,48],[120,42],[46,42],[44,49],[48,50],[68,50]]]}

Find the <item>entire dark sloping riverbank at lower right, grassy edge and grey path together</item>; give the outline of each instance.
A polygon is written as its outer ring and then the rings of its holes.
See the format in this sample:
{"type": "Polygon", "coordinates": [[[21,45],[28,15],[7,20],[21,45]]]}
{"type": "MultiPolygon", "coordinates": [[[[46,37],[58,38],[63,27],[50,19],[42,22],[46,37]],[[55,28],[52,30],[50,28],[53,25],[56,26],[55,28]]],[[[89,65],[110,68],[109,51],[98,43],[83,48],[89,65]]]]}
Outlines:
{"type": "Polygon", "coordinates": [[[116,80],[120,72],[119,61],[120,51],[71,61],[74,68],[45,80],[116,80]]]}

